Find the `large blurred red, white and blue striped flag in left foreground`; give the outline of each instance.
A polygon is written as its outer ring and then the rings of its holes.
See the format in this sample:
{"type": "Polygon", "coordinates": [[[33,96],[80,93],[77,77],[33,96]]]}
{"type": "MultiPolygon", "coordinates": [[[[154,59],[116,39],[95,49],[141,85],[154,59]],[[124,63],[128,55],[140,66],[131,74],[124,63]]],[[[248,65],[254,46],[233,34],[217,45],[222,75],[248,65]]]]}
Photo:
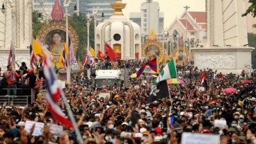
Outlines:
{"type": "Polygon", "coordinates": [[[61,123],[62,125],[67,125],[68,127],[74,127],[74,125],[65,118],[65,114],[58,106],[59,96],[61,95],[62,89],[56,79],[56,74],[54,68],[51,66],[51,60],[48,57],[44,60],[44,74],[47,82],[47,101],[49,105],[49,111],[54,120],[61,123]]]}

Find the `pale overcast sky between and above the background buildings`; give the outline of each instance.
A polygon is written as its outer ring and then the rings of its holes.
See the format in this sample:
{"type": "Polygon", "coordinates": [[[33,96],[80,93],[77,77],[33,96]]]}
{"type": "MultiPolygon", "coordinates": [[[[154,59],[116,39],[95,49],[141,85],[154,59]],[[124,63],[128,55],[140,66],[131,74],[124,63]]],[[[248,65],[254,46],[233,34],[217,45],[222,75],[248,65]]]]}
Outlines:
{"type": "MultiPolygon", "coordinates": [[[[145,0],[122,0],[127,3],[125,16],[129,17],[129,12],[140,12],[141,3],[145,0]]],[[[170,26],[175,17],[180,17],[184,12],[184,6],[189,6],[189,11],[205,11],[205,0],[153,0],[158,1],[160,12],[164,12],[164,28],[170,26]]]]}

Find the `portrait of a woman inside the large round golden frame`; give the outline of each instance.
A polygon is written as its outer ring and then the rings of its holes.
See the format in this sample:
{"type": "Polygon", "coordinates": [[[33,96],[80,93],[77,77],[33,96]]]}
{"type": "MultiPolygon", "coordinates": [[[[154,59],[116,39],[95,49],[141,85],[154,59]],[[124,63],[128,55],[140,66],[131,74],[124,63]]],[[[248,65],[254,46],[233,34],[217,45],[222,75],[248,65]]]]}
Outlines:
{"type": "MultiPolygon", "coordinates": [[[[66,41],[66,32],[64,30],[51,30],[45,36],[45,46],[53,55],[61,55],[66,41]]],[[[70,37],[69,37],[70,45],[70,37]]]]}

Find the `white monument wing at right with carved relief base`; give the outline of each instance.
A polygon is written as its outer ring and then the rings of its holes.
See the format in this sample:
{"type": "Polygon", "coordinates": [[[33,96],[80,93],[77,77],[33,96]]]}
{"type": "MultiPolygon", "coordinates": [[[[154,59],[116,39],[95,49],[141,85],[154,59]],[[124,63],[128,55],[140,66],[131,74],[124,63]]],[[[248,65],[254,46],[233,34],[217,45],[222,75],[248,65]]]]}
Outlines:
{"type": "Polygon", "coordinates": [[[245,3],[241,0],[207,0],[207,44],[191,48],[198,69],[223,73],[250,73],[254,48],[248,46],[245,3]],[[242,58],[241,58],[242,57],[242,58]]]}

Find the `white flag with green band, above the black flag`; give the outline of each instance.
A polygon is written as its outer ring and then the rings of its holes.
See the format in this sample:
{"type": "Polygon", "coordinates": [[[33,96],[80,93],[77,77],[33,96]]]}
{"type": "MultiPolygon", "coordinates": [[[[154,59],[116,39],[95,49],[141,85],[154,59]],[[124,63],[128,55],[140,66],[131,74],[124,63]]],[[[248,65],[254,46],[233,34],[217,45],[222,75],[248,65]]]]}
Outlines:
{"type": "Polygon", "coordinates": [[[177,78],[176,64],[173,58],[168,62],[168,64],[166,64],[166,66],[164,66],[155,82],[158,83],[163,80],[168,80],[169,78],[177,78]]]}

